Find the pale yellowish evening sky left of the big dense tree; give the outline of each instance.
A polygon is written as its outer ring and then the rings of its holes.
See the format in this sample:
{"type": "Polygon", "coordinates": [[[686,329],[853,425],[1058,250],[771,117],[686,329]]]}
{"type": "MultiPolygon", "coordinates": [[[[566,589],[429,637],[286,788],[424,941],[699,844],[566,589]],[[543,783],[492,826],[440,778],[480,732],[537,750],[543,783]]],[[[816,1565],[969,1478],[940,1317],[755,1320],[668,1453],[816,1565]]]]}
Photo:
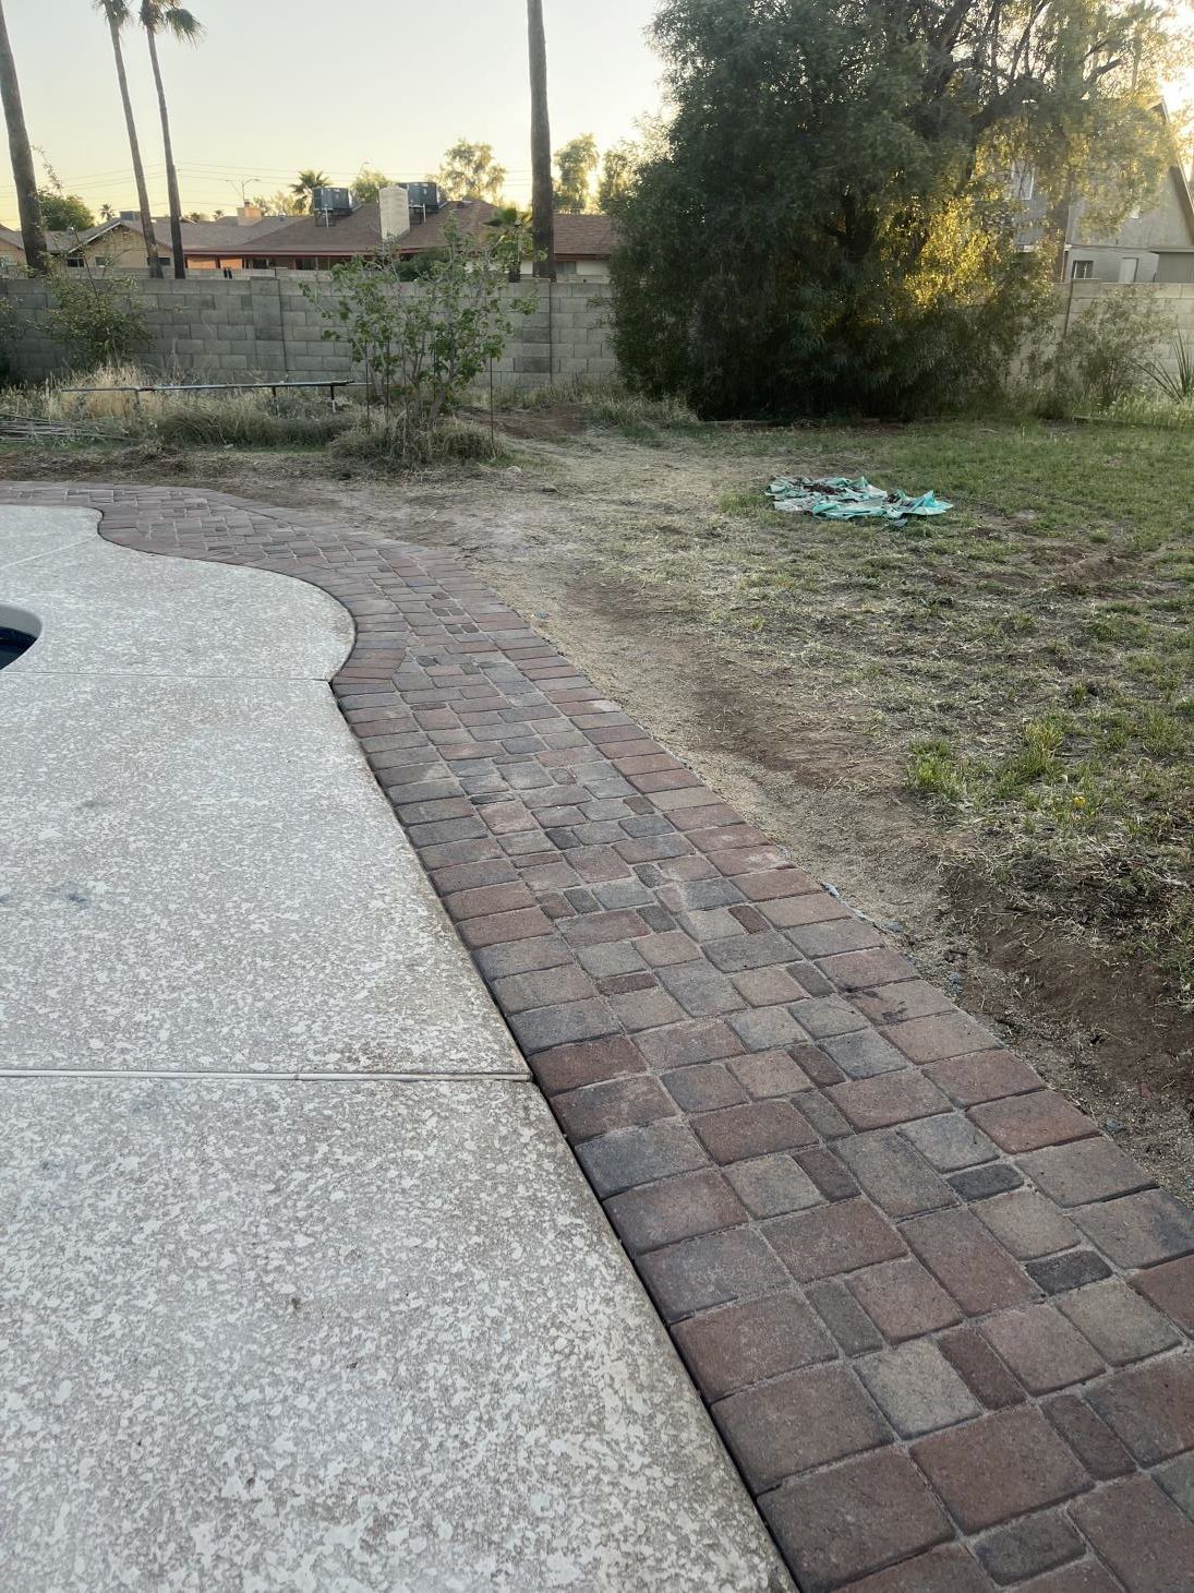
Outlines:
{"type": "MultiPolygon", "coordinates": [[[[465,137],[492,143],[513,199],[530,194],[524,0],[189,0],[197,49],[161,43],[183,210],[231,212],[302,167],[349,186],[360,167],[435,172],[465,137]]],[[[552,148],[632,137],[659,107],[643,30],[656,0],[544,0],[552,148]]],[[[91,0],[5,0],[29,135],[92,210],[135,207],[107,25],[91,0]]],[[[143,40],[126,40],[154,212],[166,210],[143,40]]],[[[3,148],[0,145],[0,148],[3,148]]],[[[16,223],[8,162],[0,221],[16,223]]]]}

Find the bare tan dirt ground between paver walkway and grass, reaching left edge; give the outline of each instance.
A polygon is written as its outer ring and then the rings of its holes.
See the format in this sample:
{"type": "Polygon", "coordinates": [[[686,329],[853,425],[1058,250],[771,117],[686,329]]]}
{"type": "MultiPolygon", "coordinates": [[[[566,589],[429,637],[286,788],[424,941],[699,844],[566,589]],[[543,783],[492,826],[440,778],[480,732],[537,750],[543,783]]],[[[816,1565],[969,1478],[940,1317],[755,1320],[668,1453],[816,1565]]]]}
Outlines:
{"type": "MultiPolygon", "coordinates": [[[[778,567],[791,581],[801,624],[753,636],[721,620],[720,586],[748,580],[750,566],[716,505],[756,491],[790,440],[726,436],[710,451],[586,432],[576,413],[527,411],[513,424],[522,427],[516,470],[408,481],[330,470],[314,451],[5,451],[0,473],[217,487],[457,550],[651,734],[893,935],[927,978],[981,1013],[1159,1180],[1191,1198],[1191,1016],[1167,999],[1153,967],[1071,929],[1043,910],[1048,898],[995,879],[971,838],[942,827],[907,790],[904,749],[923,712],[909,671],[931,666],[938,706],[955,712],[947,685],[936,685],[949,682],[955,658],[933,629],[933,604],[973,597],[965,559],[919,572],[920,589],[938,594],[915,599],[928,618],[914,609],[909,620],[904,610],[888,640],[887,631],[866,631],[893,580],[882,542],[869,546],[876,569],[860,585],[826,577],[790,538],[788,562],[769,566],[766,578],[774,581],[778,567]],[[704,559],[699,580],[678,562],[683,578],[672,586],[640,551],[667,561],[675,550],[685,561],[694,546],[704,559]],[[909,663],[885,647],[911,648],[909,663]]],[[[511,430],[509,417],[503,427],[511,430]]],[[[855,464],[845,444],[839,457],[844,468],[855,464]]],[[[939,475],[933,484],[949,486],[939,475]]],[[[979,550],[973,558],[990,556],[977,586],[992,616],[1019,593],[1035,594],[1041,578],[1114,591],[1135,569],[1130,548],[1049,535],[1044,516],[1040,543],[1017,562],[998,562],[1009,537],[1025,526],[1036,535],[1030,513],[1025,519],[1005,503],[968,530],[979,550]]],[[[1020,645],[1014,634],[992,634],[982,647],[997,653],[1020,645]]],[[[981,647],[974,656],[985,658],[981,647]]],[[[998,691],[997,674],[979,669],[976,679],[998,691]]]]}

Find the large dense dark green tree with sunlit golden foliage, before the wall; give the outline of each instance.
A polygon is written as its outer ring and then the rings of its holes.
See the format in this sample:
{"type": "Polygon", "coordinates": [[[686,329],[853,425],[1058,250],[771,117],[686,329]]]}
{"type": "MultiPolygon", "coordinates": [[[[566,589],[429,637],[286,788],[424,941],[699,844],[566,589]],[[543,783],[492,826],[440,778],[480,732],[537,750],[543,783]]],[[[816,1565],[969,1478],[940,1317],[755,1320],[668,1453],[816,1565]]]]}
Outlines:
{"type": "Polygon", "coordinates": [[[1156,182],[1151,0],[665,0],[673,105],[615,201],[616,338],[705,414],[906,414],[990,376],[1041,301],[1013,161],[1108,210],[1156,182]],[[1103,177],[1105,174],[1105,177],[1103,177]]]}

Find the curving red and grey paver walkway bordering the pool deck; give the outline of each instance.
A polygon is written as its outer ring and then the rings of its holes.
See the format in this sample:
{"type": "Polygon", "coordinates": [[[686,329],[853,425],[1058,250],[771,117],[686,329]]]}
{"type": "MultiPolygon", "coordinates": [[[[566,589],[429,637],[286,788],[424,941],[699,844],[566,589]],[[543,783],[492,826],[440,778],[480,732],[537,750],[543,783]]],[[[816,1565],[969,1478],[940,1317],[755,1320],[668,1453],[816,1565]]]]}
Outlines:
{"type": "Polygon", "coordinates": [[[1194,1214],[444,554],[172,489],[334,679],[806,1593],[1194,1588],[1194,1214]]]}

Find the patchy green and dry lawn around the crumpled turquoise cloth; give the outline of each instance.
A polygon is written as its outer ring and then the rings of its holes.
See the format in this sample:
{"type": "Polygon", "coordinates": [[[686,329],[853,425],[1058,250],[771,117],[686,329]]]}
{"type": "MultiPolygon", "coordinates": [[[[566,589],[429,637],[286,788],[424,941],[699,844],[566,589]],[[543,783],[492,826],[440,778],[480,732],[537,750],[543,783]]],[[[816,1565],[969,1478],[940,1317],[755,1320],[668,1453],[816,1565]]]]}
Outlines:
{"type": "Polygon", "coordinates": [[[686,430],[747,484],[611,550],[750,634],[871,734],[990,870],[1143,953],[1194,1004],[1194,446],[1176,430],[954,422],[686,430]],[[767,476],[954,500],[904,529],[771,508],[767,476]]]}

